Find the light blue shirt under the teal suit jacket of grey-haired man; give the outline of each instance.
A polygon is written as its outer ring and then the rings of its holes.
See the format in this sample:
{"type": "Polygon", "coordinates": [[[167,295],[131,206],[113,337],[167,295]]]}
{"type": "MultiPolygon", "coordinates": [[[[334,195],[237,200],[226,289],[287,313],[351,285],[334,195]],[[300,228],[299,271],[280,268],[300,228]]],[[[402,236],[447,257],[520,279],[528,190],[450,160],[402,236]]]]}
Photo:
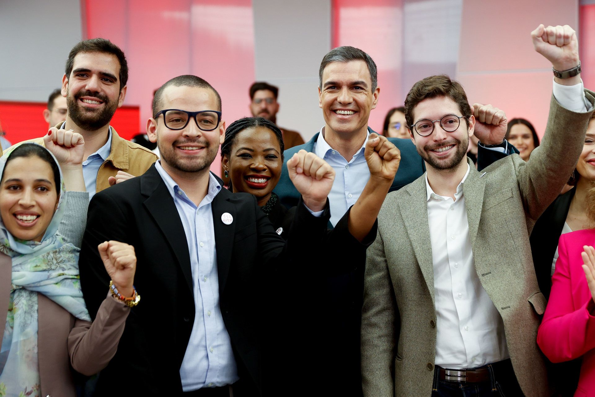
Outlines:
{"type": "Polygon", "coordinates": [[[324,159],[336,172],[331,193],[328,194],[331,209],[330,221],[333,226],[337,225],[347,209],[355,204],[355,201],[358,201],[368,183],[370,171],[364,156],[364,149],[369,136],[368,131],[364,144],[349,162],[324,140],[324,127],[320,129],[318,139],[314,143],[312,151],[315,155],[324,159]]]}

